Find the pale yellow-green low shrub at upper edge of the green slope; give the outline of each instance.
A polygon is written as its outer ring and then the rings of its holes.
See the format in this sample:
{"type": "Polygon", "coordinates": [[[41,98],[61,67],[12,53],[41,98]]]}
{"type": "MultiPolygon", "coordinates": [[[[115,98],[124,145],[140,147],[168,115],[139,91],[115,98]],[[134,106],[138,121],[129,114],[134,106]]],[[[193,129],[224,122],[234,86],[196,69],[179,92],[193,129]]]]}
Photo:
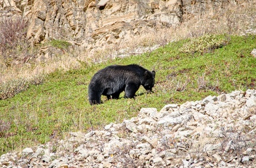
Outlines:
{"type": "Polygon", "coordinates": [[[199,38],[192,38],[181,47],[180,52],[184,53],[206,53],[221,48],[228,43],[228,40],[219,35],[204,35],[199,38]]]}

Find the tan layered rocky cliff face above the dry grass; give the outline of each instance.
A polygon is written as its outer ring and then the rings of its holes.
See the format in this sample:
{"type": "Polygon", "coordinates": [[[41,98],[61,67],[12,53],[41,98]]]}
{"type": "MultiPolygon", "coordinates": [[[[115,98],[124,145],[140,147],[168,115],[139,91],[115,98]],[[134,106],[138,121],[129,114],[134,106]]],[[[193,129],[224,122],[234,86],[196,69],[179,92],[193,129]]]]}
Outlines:
{"type": "Polygon", "coordinates": [[[117,44],[152,29],[171,27],[185,15],[211,13],[237,0],[0,0],[0,17],[29,19],[34,44],[63,39],[85,49],[117,44]],[[101,4],[101,5],[100,5],[101,4]]]}

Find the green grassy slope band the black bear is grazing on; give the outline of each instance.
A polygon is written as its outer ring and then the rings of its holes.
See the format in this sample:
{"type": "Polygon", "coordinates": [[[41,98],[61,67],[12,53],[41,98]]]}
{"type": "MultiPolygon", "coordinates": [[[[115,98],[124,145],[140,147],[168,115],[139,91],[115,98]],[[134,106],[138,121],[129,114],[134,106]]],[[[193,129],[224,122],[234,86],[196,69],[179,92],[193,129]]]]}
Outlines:
{"type": "Polygon", "coordinates": [[[47,75],[43,84],[30,85],[26,91],[0,100],[0,154],[63,138],[68,131],[88,131],[110,122],[119,123],[136,117],[142,107],[161,110],[169,103],[255,88],[256,58],[249,54],[256,48],[255,35],[226,38],[229,42],[209,52],[182,52],[180,48],[190,42],[184,40],[151,53],[47,75]],[[90,106],[89,80],[111,64],[139,64],[155,70],[154,93],[146,94],[140,87],[135,99],[107,101],[102,96],[103,104],[90,106]]]}

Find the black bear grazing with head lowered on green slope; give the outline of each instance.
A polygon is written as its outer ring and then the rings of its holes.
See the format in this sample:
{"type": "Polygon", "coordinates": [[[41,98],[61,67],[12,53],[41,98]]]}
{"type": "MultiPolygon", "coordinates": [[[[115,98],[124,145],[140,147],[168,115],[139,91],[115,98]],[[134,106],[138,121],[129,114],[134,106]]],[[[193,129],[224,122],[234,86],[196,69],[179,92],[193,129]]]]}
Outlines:
{"type": "Polygon", "coordinates": [[[155,71],[146,70],[139,65],[110,65],[98,71],[91,79],[88,88],[89,103],[100,104],[101,95],[108,99],[119,98],[122,91],[124,98],[134,98],[140,85],[151,92],[155,84],[155,71]]]}

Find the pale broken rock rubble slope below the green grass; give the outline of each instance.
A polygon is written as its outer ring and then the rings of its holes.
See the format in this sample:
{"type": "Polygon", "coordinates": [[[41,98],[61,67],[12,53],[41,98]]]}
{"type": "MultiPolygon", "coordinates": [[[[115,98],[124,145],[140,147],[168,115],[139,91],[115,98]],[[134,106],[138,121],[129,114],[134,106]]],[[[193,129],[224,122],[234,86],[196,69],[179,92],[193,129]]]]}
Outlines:
{"type": "Polygon", "coordinates": [[[256,91],[233,91],[142,108],[104,130],[3,154],[0,167],[256,167],[255,133],[256,91]]]}

